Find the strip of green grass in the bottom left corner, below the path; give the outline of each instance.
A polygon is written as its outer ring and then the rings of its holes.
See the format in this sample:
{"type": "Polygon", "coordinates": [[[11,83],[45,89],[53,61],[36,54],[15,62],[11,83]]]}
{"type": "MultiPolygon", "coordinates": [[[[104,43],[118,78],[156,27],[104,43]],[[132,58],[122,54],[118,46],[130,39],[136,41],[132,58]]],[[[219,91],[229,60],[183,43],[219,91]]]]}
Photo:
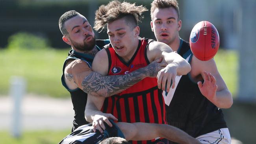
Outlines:
{"type": "Polygon", "coordinates": [[[10,132],[0,131],[1,144],[58,144],[69,135],[69,130],[63,131],[24,131],[20,138],[14,138],[10,132]]]}

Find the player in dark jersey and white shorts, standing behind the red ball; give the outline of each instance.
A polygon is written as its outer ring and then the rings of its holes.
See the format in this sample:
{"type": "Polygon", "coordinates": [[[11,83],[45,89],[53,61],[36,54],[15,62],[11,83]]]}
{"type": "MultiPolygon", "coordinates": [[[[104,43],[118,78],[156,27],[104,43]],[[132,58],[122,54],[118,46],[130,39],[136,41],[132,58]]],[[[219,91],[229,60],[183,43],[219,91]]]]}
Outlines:
{"type": "Polygon", "coordinates": [[[233,100],[214,59],[200,61],[189,42],[179,37],[182,21],[176,0],[154,0],[151,28],[158,41],[168,44],[191,65],[189,74],[177,77],[174,89],[163,92],[167,122],[203,144],[230,144],[231,138],[219,108],[231,107],[233,100]]]}

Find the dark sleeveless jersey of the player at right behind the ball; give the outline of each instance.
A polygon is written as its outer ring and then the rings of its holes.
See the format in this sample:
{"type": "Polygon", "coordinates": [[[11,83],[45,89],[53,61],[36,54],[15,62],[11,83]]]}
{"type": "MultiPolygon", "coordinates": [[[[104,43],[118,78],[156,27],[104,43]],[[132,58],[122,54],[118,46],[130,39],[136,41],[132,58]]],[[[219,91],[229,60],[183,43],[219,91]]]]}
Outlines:
{"type": "MultiPolygon", "coordinates": [[[[193,54],[189,42],[181,39],[178,54],[191,63],[193,54]]],[[[165,105],[168,124],[182,129],[192,137],[227,127],[222,110],[201,94],[197,82],[191,79],[190,73],[181,76],[176,83],[177,87],[170,89],[175,90],[173,97],[165,105]]],[[[167,97],[168,94],[163,96],[167,97]]]]}

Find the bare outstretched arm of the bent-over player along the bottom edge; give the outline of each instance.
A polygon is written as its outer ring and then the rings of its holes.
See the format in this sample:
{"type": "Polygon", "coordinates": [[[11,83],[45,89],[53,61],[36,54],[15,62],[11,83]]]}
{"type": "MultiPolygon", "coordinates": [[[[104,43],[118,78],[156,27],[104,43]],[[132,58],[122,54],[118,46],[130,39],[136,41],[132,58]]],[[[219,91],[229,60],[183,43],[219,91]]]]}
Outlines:
{"type": "Polygon", "coordinates": [[[118,122],[117,126],[123,132],[126,140],[151,140],[161,137],[179,144],[200,144],[198,140],[184,131],[167,124],[118,122]]]}

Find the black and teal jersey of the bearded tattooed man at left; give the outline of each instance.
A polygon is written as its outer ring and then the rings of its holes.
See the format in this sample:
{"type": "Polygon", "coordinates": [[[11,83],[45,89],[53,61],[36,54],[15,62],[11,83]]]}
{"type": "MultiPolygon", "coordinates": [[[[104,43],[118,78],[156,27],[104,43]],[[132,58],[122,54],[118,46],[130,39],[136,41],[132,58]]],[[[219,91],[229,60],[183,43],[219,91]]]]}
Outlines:
{"type": "MultiPolygon", "coordinates": [[[[104,45],[109,44],[109,43],[110,43],[109,39],[96,40],[96,48],[98,48],[98,50],[101,50],[104,45]]],[[[73,128],[72,128],[72,131],[74,131],[74,129],[76,129],[77,127],[85,125],[85,124],[89,124],[89,122],[87,122],[85,120],[85,116],[84,116],[85,105],[87,102],[87,93],[83,92],[83,90],[81,90],[79,88],[74,89],[74,90],[69,89],[64,80],[65,66],[67,64],[67,61],[70,59],[81,59],[81,60],[85,61],[87,63],[87,65],[91,68],[94,57],[91,55],[88,55],[88,54],[70,50],[68,57],[65,59],[65,62],[63,64],[63,70],[62,70],[63,74],[61,76],[61,82],[62,82],[62,85],[70,92],[70,95],[71,95],[73,109],[75,112],[73,128]]]]}

